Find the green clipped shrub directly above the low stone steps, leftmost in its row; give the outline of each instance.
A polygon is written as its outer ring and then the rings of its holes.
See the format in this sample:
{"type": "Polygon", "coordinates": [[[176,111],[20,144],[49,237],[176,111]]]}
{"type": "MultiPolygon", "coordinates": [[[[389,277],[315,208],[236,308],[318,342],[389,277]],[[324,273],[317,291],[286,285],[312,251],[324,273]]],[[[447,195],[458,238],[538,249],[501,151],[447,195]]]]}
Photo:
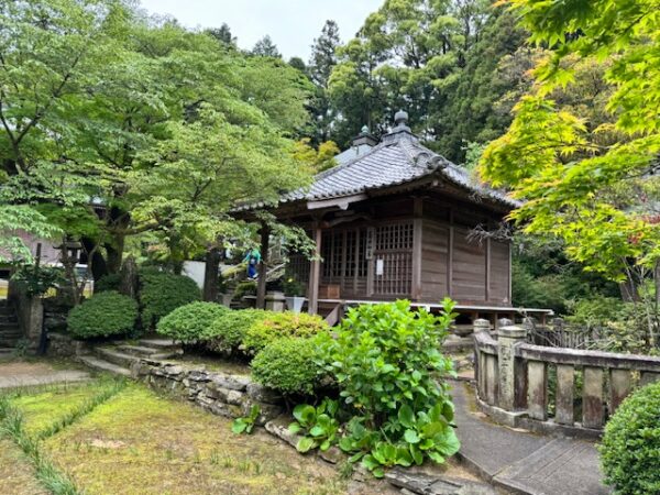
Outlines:
{"type": "Polygon", "coordinates": [[[156,331],[179,342],[200,342],[208,338],[211,322],[231,309],[216,302],[190,302],[163,317],[156,331]]]}

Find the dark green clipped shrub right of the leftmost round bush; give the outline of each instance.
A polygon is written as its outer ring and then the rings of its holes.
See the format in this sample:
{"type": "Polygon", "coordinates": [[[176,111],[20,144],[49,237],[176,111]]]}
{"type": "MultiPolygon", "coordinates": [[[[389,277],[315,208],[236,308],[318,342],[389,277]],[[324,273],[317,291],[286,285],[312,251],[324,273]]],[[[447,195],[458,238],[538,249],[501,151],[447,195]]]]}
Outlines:
{"type": "Polygon", "coordinates": [[[201,299],[199,287],[193,278],[154,268],[140,272],[140,286],[142,324],[146,329],[153,329],[161,318],[174,309],[201,299]]]}

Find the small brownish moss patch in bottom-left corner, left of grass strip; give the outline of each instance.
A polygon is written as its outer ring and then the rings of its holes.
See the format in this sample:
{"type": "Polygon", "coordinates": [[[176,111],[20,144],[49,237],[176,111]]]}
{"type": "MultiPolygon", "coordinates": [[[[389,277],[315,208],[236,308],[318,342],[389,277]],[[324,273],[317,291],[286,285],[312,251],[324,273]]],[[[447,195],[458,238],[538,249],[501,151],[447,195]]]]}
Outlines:
{"type": "Polygon", "coordinates": [[[12,495],[46,494],[34,476],[34,469],[9,439],[0,438],[0,493],[12,495]]]}

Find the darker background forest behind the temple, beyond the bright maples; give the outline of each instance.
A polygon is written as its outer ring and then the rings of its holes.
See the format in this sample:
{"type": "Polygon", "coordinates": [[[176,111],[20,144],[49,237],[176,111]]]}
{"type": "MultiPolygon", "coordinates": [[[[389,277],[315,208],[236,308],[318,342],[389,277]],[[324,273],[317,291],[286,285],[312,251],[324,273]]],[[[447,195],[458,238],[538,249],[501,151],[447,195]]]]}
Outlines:
{"type": "MultiPolygon", "coordinates": [[[[235,48],[228,25],[211,32],[235,48]]],[[[320,151],[333,144],[344,150],[363,125],[380,136],[405,109],[425,145],[475,173],[484,148],[506,133],[514,106],[534,84],[531,72],[544,50],[528,37],[515,12],[488,0],[386,0],[345,43],[328,20],[310,59],[287,62],[314,86],[310,120],[298,138],[320,151]]],[[[270,36],[251,54],[282,58],[270,36]]],[[[584,64],[576,88],[556,95],[566,108],[588,113],[594,125],[606,120],[605,66],[584,64]]],[[[519,307],[565,315],[622,297],[617,284],[585,273],[557,240],[516,234],[515,246],[519,307]]]]}

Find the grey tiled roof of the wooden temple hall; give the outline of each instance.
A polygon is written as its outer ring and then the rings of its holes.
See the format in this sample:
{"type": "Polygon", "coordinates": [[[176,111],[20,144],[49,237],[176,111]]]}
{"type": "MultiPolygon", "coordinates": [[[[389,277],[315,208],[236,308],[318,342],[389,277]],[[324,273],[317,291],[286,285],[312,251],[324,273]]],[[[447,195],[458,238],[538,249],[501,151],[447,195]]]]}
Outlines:
{"type": "MultiPolygon", "coordinates": [[[[397,124],[392,132],[383,136],[381,143],[318,174],[310,187],[283,195],[279,204],[353,196],[438,174],[449,183],[465,189],[476,200],[490,199],[507,208],[519,206],[518,201],[505,193],[476,183],[464,168],[422,146],[405,120],[397,121],[397,124]]],[[[265,205],[251,205],[244,209],[262,206],[265,205]]]]}

